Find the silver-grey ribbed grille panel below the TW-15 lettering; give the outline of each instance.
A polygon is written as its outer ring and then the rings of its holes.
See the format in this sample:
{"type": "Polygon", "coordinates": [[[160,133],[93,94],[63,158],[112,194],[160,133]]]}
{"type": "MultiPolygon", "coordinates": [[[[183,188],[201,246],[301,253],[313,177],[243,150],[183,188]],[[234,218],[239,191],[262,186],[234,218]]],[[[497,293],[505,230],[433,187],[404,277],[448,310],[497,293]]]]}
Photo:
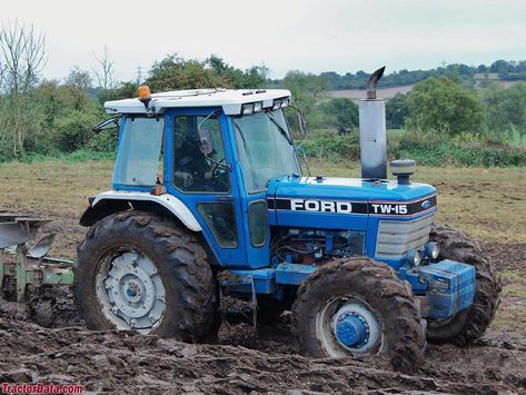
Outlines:
{"type": "Polygon", "coordinates": [[[385,220],[378,225],[376,257],[399,259],[409,249],[421,248],[429,239],[433,215],[414,220],[385,220]]]}

